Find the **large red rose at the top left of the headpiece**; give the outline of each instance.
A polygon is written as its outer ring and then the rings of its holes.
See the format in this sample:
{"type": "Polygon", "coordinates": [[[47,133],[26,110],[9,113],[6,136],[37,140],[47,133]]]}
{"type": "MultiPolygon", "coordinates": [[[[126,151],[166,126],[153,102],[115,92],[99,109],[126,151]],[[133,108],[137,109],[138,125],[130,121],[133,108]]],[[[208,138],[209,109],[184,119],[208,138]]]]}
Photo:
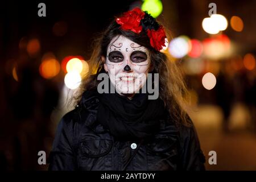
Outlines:
{"type": "Polygon", "coordinates": [[[138,7],[131,11],[123,13],[123,16],[116,19],[118,24],[121,24],[122,30],[131,30],[137,34],[142,31],[141,19],[144,17],[144,12],[138,7]]]}

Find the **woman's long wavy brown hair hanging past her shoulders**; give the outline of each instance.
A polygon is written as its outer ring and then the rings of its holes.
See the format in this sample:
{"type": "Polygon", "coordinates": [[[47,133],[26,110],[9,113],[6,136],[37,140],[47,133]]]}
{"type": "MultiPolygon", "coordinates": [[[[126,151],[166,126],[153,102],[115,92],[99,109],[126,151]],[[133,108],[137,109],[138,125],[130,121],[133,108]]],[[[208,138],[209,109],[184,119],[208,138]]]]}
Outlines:
{"type": "Polygon", "coordinates": [[[122,35],[148,49],[151,73],[159,73],[159,97],[164,101],[170,117],[175,123],[185,126],[191,125],[187,114],[189,109],[186,100],[188,98],[188,90],[183,80],[183,74],[175,61],[171,59],[167,51],[159,52],[152,48],[150,39],[144,30],[136,34],[133,31],[121,30],[119,27],[119,24],[113,20],[108,28],[94,39],[92,56],[88,60],[89,72],[83,77],[80,88],[75,94],[76,104],[80,102],[85,90],[97,89],[97,85],[101,81],[97,80],[97,76],[100,73],[106,73],[101,56],[106,57],[107,48],[111,40],[115,36],[122,35]]]}

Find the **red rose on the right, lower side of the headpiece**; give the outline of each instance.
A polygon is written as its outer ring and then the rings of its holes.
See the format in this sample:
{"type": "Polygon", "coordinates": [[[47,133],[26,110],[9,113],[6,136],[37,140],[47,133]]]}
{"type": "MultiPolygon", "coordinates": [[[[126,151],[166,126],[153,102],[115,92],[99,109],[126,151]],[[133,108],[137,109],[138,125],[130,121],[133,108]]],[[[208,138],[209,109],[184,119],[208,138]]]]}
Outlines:
{"type": "Polygon", "coordinates": [[[150,44],[156,50],[160,51],[162,47],[164,47],[164,43],[166,43],[166,33],[164,32],[163,26],[160,26],[158,30],[147,30],[147,36],[150,38],[150,44]]]}

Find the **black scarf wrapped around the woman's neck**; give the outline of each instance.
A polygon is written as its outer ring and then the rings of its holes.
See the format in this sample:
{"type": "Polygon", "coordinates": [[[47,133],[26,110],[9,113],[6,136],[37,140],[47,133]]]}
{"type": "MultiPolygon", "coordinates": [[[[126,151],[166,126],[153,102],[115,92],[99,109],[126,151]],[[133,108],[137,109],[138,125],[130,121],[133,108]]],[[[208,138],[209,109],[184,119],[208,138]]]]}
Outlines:
{"type": "Polygon", "coordinates": [[[148,100],[148,93],[141,90],[131,100],[116,92],[98,94],[98,97],[98,122],[119,139],[149,137],[159,129],[159,119],[164,117],[163,101],[148,100]]]}

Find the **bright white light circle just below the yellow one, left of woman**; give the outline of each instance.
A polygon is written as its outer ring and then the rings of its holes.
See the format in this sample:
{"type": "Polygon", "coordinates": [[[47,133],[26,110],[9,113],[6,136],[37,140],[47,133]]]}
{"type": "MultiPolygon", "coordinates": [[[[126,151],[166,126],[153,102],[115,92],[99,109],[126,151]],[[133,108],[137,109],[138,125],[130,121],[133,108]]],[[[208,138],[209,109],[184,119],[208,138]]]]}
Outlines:
{"type": "Polygon", "coordinates": [[[76,71],[68,72],[64,78],[65,85],[67,86],[67,88],[72,90],[79,87],[79,85],[81,84],[81,80],[82,78],[80,74],[76,71]]]}

